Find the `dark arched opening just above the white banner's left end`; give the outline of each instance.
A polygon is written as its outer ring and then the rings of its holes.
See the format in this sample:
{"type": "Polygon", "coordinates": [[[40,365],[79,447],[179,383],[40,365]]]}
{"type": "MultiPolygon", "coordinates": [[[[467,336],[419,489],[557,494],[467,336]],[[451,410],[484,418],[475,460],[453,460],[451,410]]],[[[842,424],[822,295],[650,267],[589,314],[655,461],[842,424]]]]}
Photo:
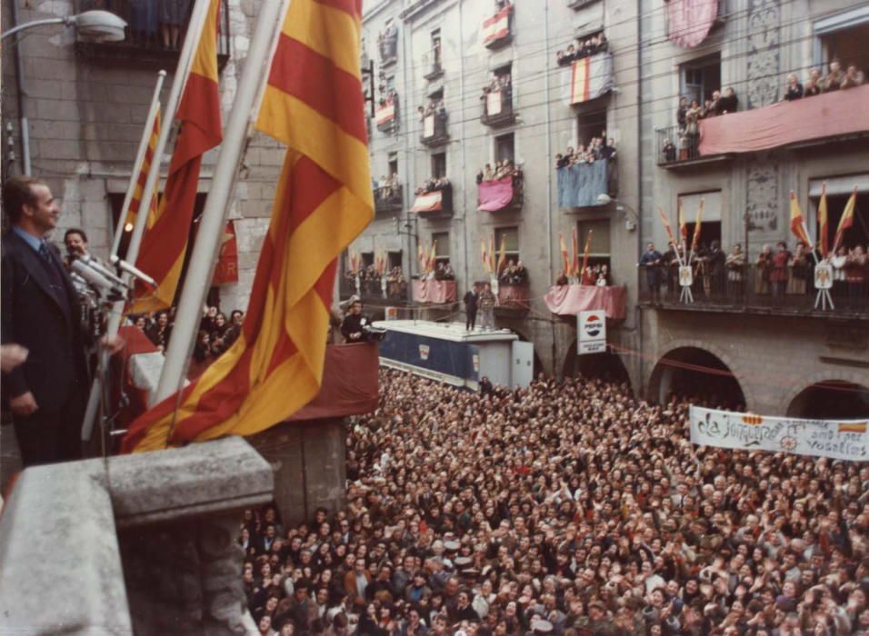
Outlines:
{"type": "Polygon", "coordinates": [[[671,395],[685,395],[693,402],[744,410],[745,395],[734,373],[714,353],[698,347],[679,347],[654,365],[649,380],[654,402],[668,402],[671,395]]]}

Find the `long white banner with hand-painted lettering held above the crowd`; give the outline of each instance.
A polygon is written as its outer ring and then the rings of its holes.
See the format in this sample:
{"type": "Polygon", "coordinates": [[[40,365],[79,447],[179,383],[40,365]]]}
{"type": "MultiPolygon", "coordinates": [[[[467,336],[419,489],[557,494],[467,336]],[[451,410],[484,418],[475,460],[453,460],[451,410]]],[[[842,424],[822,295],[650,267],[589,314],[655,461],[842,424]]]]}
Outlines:
{"type": "Polygon", "coordinates": [[[692,406],[690,423],[691,442],[701,446],[869,459],[867,420],[800,420],[692,406]]]}

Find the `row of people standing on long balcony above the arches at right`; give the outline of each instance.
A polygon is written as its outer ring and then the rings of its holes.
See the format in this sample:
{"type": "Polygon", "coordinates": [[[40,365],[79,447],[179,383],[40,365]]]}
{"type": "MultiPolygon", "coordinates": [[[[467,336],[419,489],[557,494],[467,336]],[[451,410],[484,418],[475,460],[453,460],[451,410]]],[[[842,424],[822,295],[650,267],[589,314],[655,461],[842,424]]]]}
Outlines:
{"type": "MultiPolygon", "coordinates": [[[[744,293],[771,296],[784,302],[786,298],[814,295],[814,269],[817,263],[828,263],[832,269],[832,297],[837,305],[856,307],[869,299],[869,256],[863,245],[853,248],[840,245],[835,253],[824,258],[803,242],[797,242],[792,252],[786,242],[775,246],[766,243],[754,261],[749,261],[741,243],[735,243],[725,253],[718,241],[701,245],[690,253],[694,293],[703,296],[727,296],[734,300],[744,293]]],[[[649,243],[640,260],[647,268],[646,285],[656,295],[664,285],[670,293],[678,293],[679,262],[688,258],[682,245],[670,245],[665,253],[649,243]]],[[[698,296],[695,296],[695,300],[698,296]]]]}

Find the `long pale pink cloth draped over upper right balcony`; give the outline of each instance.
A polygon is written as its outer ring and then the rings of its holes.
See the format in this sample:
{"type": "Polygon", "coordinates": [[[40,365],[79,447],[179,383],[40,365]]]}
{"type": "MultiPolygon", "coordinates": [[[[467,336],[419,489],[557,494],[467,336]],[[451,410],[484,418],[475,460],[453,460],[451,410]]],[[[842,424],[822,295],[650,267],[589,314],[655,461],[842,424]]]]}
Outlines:
{"type": "Polygon", "coordinates": [[[869,84],[700,122],[700,154],[753,153],[869,131],[869,84]]]}

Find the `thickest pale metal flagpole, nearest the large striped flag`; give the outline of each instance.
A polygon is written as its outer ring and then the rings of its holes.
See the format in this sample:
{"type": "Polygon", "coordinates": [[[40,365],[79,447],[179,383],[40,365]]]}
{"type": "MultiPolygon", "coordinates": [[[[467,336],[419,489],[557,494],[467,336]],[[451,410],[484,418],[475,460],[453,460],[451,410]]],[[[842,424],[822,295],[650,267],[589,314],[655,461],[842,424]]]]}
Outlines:
{"type": "Polygon", "coordinates": [[[275,36],[280,34],[283,27],[280,15],[285,2],[286,0],[266,0],[260,7],[250,51],[245,59],[245,68],[250,72],[242,75],[238,84],[224,141],[217,154],[214,177],[205,200],[196,244],[190,256],[155,402],[161,402],[179,391],[185,381],[196,330],[202,319],[202,305],[205,303],[215,267],[215,257],[224,232],[229,199],[235,187],[239,160],[251,127],[254,106],[261,94],[261,83],[267,81],[268,60],[276,43],[275,36]]]}

